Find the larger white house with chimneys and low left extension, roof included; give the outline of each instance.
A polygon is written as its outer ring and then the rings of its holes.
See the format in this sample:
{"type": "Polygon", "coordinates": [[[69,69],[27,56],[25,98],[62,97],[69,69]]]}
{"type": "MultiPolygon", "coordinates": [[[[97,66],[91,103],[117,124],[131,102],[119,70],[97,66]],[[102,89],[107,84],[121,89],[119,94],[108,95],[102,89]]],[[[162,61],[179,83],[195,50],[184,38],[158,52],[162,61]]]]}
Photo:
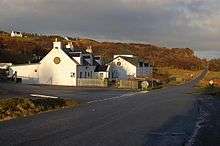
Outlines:
{"type": "Polygon", "coordinates": [[[77,79],[95,79],[101,61],[93,54],[74,48],[71,42],[62,47],[55,41],[53,49],[37,64],[11,66],[12,73],[22,83],[77,86],[77,79]]]}

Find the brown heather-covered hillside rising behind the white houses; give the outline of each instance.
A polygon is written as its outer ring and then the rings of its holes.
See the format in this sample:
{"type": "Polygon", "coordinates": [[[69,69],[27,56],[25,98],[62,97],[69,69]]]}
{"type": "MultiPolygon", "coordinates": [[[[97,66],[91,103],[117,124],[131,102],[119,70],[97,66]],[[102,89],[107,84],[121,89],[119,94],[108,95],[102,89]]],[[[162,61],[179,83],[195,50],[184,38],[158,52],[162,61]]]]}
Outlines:
{"type": "MultiPolygon", "coordinates": [[[[64,44],[66,40],[59,36],[38,36],[28,34],[23,38],[12,38],[0,31],[0,62],[15,64],[36,62],[45,56],[52,48],[55,38],[64,44]]],[[[91,39],[73,39],[75,47],[87,48],[91,46],[94,54],[101,55],[105,62],[113,58],[114,54],[134,54],[159,67],[174,67],[181,69],[199,69],[204,61],[194,55],[189,48],[161,48],[150,44],[98,42],[91,39]]]]}

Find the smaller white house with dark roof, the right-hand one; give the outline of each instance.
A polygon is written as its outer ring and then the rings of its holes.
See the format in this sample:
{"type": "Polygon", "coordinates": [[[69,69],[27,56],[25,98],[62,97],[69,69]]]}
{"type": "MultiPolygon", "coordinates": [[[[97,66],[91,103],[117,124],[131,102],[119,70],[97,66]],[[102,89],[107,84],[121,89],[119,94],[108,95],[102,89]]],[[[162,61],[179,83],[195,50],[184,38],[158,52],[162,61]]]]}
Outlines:
{"type": "Polygon", "coordinates": [[[114,59],[108,65],[111,80],[149,77],[153,73],[149,62],[133,55],[114,55],[114,59]]]}

